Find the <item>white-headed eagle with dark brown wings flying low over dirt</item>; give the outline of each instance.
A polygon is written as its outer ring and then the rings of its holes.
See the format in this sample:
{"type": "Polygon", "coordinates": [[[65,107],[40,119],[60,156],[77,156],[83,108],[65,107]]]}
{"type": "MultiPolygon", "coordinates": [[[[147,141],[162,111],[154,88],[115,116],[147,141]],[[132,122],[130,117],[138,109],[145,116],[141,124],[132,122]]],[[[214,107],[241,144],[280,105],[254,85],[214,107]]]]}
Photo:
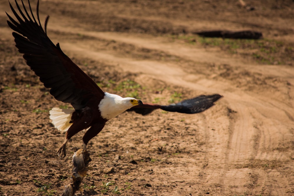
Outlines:
{"type": "Polygon", "coordinates": [[[29,0],[29,10],[26,9],[23,0],[21,4],[24,11],[16,0],[15,4],[17,9],[14,9],[9,2],[16,20],[6,12],[10,20],[7,20],[7,23],[14,31],[12,35],[15,46],[44,86],[50,88],[50,94],[58,101],[70,103],[74,108],[52,108],[49,111],[54,127],[61,132],[66,132],[64,142],[56,153],[60,158],[66,156],[66,144],[76,133],[86,131],[83,136],[83,148],[87,150],[89,140],[100,133],[105,123],[125,111],[147,115],[153,110],[161,109],[193,114],[210,108],[222,97],[219,94],[201,95],[179,103],[159,105],[104,92],[64,54],[59,43],[55,45],[47,36],[49,16],[45,19],[43,29],[39,19],[39,0],[35,16],[29,0]]]}

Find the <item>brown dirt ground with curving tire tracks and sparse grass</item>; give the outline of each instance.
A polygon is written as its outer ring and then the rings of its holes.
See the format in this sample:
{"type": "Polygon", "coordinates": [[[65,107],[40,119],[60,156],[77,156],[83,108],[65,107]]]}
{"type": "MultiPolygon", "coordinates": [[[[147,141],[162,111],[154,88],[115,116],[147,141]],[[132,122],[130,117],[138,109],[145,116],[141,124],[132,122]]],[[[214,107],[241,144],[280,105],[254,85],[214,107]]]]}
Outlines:
{"type": "MultiPolygon", "coordinates": [[[[0,10],[0,195],[60,195],[83,133],[60,160],[64,134],[48,111],[70,105],[26,66],[6,0],[0,10]]],[[[293,1],[41,0],[40,15],[104,91],[161,104],[224,96],[199,114],[110,120],[88,144],[92,169],[76,195],[294,195],[293,1]],[[218,29],[263,39],[193,34],[218,29]]]]}

